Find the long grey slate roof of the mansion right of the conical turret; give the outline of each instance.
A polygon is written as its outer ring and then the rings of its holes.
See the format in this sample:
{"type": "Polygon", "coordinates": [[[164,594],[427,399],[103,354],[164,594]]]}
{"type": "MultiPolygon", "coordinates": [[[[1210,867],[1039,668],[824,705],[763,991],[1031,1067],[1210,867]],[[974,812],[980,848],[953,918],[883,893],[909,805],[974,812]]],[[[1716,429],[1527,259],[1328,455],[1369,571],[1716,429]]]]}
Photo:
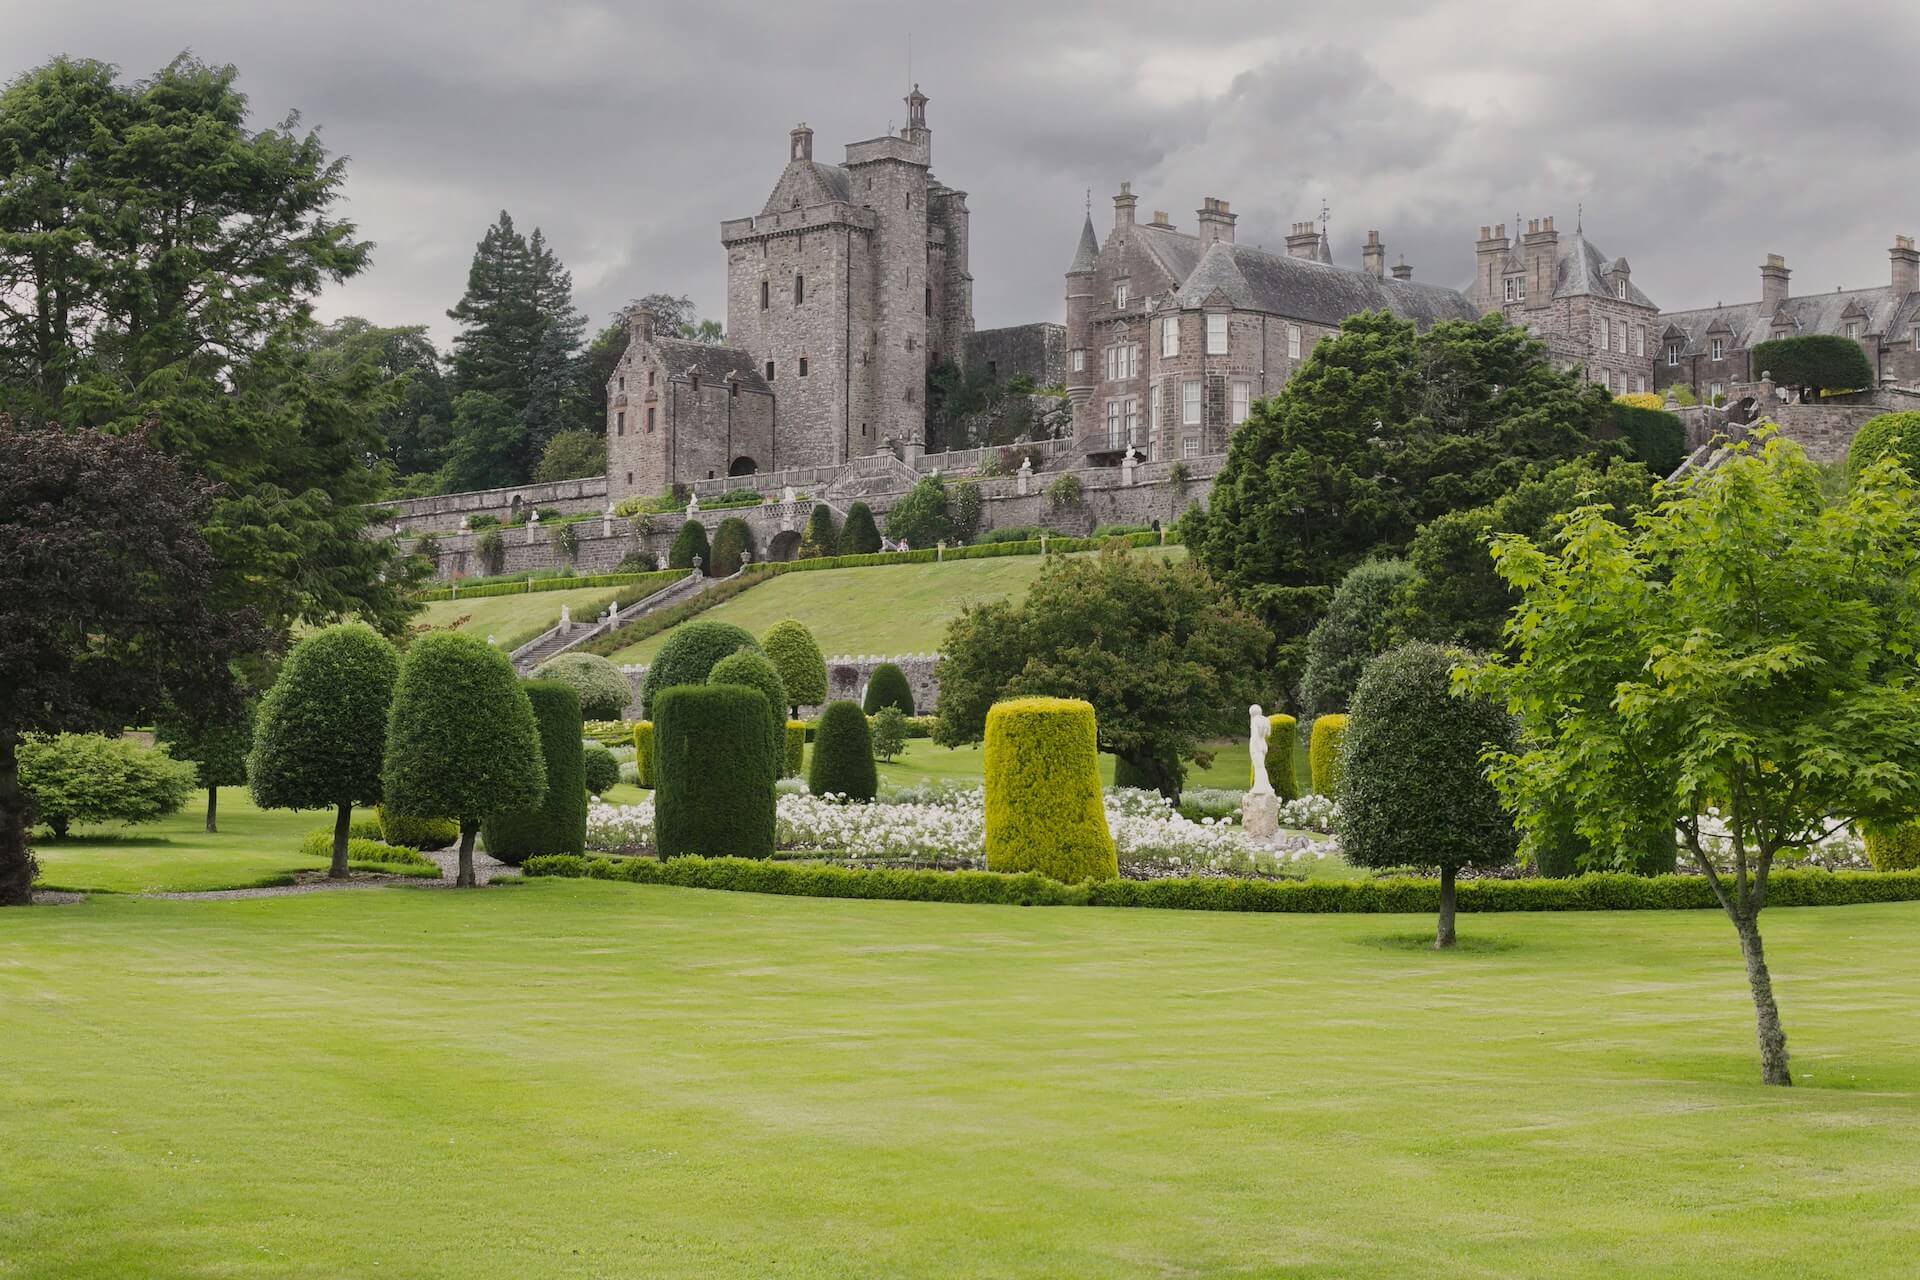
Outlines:
{"type": "Polygon", "coordinates": [[[1419,324],[1480,319],[1480,311],[1459,290],[1413,280],[1380,280],[1367,271],[1227,242],[1206,251],[1173,297],[1181,307],[1202,307],[1213,294],[1223,294],[1244,311],[1267,311],[1327,326],[1338,326],[1359,311],[1382,307],[1419,324]]]}

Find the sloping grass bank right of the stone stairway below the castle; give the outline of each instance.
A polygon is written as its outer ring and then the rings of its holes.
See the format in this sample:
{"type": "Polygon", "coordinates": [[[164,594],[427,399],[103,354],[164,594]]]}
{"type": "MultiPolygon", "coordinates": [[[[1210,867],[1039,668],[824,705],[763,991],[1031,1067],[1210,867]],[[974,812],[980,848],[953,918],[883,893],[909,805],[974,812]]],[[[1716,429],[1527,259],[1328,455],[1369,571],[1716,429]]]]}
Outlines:
{"type": "MultiPolygon", "coordinates": [[[[1152,547],[1144,553],[1185,557],[1187,549],[1152,547]]],[[[755,635],[764,635],[781,618],[799,618],[829,658],[864,652],[933,652],[947,637],[947,624],[966,604],[1025,597],[1044,564],[1044,557],[1000,557],[945,564],[801,570],[764,581],[699,616],[732,622],[755,635]]],[[[578,608],[574,616],[580,616],[578,608]]],[[[612,660],[651,662],[672,633],[666,629],[649,635],[612,654],[612,660]]]]}

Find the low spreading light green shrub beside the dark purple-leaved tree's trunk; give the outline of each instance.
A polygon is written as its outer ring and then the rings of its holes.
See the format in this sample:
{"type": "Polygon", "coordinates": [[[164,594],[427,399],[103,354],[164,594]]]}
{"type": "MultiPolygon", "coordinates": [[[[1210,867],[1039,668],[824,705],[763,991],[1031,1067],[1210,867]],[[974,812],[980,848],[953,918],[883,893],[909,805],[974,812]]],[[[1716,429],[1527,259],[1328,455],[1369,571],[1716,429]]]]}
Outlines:
{"type": "Polygon", "coordinates": [[[21,737],[19,785],[58,839],[73,823],[154,821],[177,814],[198,783],[190,760],[125,737],[21,737]]]}

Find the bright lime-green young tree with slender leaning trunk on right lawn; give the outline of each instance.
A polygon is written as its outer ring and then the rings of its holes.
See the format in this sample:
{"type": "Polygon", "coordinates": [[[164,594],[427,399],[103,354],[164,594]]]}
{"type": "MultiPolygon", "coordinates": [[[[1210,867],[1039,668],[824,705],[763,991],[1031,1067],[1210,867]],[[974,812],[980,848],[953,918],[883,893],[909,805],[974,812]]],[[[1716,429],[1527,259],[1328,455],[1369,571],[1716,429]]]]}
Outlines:
{"type": "Polygon", "coordinates": [[[1920,812],[1920,503],[1884,462],[1828,505],[1778,438],[1659,497],[1634,530],[1586,509],[1559,547],[1500,539],[1513,656],[1471,683],[1521,716],[1494,781],[1523,823],[1571,810],[1592,865],[1678,831],[1740,938],[1761,1077],[1788,1084],[1768,873],[1845,819],[1920,812]]]}

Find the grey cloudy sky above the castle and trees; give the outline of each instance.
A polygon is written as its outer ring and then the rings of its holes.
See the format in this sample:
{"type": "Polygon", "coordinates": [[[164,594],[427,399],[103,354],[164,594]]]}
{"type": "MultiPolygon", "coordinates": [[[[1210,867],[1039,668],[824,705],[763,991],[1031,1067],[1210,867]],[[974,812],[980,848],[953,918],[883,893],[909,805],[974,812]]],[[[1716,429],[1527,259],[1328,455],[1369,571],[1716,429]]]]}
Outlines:
{"type": "Polygon", "coordinates": [[[1338,261],[1377,226],[1453,286],[1482,223],[1571,230],[1584,203],[1674,311],[1757,297],[1764,253],[1795,294],[1885,284],[1920,232],[1912,2],[0,0],[10,77],[190,48],[240,67],[257,123],[301,111],[378,246],[323,311],[442,340],[503,207],[595,324],[649,292],[724,315],[720,219],[760,211],[797,121],[833,161],[899,127],[908,38],[983,328],[1062,319],[1085,192],[1104,234],[1123,178],[1142,221],[1221,196],[1269,248],[1325,200],[1338,261]]]}

